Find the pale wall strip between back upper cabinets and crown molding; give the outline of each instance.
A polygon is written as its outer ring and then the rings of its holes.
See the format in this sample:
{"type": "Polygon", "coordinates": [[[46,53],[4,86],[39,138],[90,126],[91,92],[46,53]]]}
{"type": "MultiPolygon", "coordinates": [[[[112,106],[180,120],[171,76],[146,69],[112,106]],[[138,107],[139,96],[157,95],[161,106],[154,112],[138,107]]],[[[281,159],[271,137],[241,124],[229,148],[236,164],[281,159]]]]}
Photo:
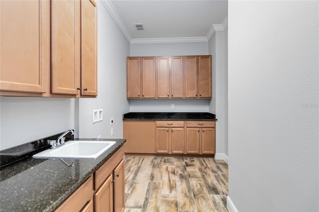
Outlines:
{"type": "Polygon", "coordinates": [[[207,55],[207,42],[131,44],[130,56],[207,55]]]}

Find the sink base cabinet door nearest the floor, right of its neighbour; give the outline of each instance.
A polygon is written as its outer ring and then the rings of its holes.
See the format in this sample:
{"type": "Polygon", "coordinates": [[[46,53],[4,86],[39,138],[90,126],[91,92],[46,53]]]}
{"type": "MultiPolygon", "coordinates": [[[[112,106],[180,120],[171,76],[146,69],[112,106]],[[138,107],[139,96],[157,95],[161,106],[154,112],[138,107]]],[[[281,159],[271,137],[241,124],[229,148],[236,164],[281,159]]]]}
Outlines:
{"type": "Polygon", "coordinates": [[[124,196],[125,196],[125,179],[124,179],[124,160],[114,170],[114,211],[124,211],[124,196]]]}

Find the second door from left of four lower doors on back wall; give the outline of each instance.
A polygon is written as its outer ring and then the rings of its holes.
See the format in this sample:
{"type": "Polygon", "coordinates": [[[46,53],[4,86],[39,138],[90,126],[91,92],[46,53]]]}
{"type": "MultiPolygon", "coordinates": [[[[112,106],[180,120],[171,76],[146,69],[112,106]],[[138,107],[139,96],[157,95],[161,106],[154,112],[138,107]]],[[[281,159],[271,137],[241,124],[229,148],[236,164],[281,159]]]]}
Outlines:
{"type": "Polygon", "coordinates": [[[184,128],[170,128],[170,153],[184,153],[184,128]]]}

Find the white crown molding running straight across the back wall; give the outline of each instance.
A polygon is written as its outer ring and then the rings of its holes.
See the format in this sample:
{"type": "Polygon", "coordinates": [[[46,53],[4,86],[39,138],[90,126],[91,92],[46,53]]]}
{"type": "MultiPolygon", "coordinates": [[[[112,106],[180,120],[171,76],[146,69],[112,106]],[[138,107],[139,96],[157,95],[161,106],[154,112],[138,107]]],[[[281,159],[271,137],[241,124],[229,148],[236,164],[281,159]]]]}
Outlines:
{"type": "Polygon", "coordinates": [[[135,38],[131,44],[142,43],[192,43],[207,42],[206,37],[167,37],[167,38],[135,38]]]}

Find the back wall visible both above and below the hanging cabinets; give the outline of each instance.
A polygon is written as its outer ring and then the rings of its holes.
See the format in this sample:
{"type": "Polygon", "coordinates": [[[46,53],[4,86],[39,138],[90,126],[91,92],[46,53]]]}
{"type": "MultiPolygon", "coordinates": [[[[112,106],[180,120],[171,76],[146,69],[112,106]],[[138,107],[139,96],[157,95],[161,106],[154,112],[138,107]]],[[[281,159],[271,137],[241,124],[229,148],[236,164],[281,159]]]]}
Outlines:
{"type": "MultiPolygon", "coordinates": [[[[131,44],[130,56],[208,55],[207,42],[131,44]]],[[[207,100],[130,100],[131,112],[208,112],[207,100]],[[171,104],[175,105],[171,109],[171,104]]]]}

